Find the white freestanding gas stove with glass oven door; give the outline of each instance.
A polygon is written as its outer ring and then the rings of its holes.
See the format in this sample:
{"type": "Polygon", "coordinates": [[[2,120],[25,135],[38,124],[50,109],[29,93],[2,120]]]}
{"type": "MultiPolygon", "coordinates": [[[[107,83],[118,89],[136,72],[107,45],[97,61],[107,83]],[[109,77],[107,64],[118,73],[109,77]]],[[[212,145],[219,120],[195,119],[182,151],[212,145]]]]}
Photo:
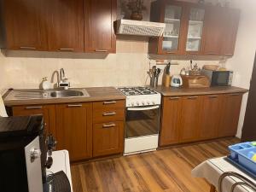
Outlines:
{"type": "Polygon", "coordinates": [[[153,151],[160,131],[160,93],[148,87],[119,88],[126,96],[125,155],[153,151]]]}

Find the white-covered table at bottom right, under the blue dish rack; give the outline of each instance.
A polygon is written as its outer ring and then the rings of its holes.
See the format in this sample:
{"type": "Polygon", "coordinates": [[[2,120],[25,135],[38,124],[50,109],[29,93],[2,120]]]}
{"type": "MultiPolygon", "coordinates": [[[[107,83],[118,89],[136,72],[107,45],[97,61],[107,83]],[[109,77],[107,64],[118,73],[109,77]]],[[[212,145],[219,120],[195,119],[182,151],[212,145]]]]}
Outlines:
{"type": "MultiPolygon", "coordinates": [[[[211,183],[216,189],[218,189],[218,178],[224,172],[237,172],[244,177],[247,177],[253,183],[256,183],[256,180],[253,177],[250,177],[244,172],[241,172],[236,166],[233,166],[228,161],[224,160],[224,157],[215,158],[211,160],[206,160],[202,162],[199,166],[196,166],[192,170],[192,175],[195,177],[204,177],[207,179],[207,182],[211,183]]],[[[225,177],[223,181],[223,191],[230,192],[232,184],[240,182],[241,180],[236,177],[225,177]]],[[[214,191],[214,189],[212,189],[214,191]]],[[[247,187],[237,187],[236,192],[253,192],[253,190],[248,189],[247,187]]]]}

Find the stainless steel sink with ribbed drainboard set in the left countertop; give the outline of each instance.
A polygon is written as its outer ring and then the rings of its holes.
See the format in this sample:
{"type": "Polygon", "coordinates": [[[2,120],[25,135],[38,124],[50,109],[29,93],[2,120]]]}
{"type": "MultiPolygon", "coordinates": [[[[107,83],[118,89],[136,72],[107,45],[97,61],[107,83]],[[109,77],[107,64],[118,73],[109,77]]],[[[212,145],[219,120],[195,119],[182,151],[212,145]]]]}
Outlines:
{"type": "Polygon", "coordinates": [[[4,100],[52,99],[67,97],[88,97],[85,89],[72,90],[11,90],[4,100]]]}

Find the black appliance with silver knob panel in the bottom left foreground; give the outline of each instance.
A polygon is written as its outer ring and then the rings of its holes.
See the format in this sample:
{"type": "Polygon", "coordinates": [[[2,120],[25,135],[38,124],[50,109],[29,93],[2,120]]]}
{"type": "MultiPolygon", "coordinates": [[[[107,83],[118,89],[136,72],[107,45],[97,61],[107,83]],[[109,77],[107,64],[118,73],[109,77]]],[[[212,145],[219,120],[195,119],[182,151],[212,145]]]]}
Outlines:
{"type": "Polygon", "coordinates": [[[0,191],[43,192],[46,161],[41,115],[0,118],[0,191]]]}

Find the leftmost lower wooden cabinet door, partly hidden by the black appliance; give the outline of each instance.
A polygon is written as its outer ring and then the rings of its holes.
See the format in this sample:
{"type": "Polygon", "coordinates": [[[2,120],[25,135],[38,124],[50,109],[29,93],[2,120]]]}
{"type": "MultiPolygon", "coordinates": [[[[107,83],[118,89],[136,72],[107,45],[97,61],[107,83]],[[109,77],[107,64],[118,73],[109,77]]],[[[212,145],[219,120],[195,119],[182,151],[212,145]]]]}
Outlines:
{"type": "Polygon", "coordinates": [[[55,105],[27,105],[12,108],[14,116],[43,115],[47,134],[55,136],[55,105]]]}

